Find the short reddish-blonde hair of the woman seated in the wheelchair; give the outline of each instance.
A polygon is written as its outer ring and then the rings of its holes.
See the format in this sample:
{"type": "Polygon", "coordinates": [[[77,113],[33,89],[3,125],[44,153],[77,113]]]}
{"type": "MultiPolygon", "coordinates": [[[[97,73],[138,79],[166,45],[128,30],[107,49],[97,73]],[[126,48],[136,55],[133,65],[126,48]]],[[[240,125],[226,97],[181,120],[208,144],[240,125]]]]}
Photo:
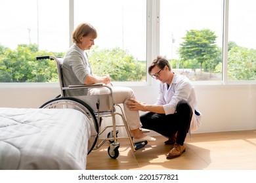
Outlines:
{"type": "Polygon", "coordinates": [[[87,23],[79,24],[73,32],[73,42],[80,43],[79,41],[80,37],[87,37],[89,35],[93,35],[93,39],[96,39],[97,31],[95,27],[87,23]]]}

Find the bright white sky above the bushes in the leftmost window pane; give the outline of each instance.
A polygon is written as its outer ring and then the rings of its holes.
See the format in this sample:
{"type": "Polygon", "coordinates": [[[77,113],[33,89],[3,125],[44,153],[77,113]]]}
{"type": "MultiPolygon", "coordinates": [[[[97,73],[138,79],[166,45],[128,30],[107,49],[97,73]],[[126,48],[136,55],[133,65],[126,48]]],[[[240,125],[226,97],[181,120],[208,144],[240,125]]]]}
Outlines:
{"type": "Polygon", "coordinates": [[[0,44],[37,44],[39,50],[64,52],[69,46],[68,0],[0,1],[0,44]]]}

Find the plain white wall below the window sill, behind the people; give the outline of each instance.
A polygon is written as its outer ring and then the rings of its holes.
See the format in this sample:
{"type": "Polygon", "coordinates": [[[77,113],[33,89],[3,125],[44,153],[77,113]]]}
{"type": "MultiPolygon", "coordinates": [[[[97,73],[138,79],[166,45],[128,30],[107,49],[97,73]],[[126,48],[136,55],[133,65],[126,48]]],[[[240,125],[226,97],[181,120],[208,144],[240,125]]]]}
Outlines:
{"type": "MultiPolygon", "coordinates": [[[[256,85],[195,85],[202,126],[196,133],[256,129],[256,85]]],[[[158,88],[131,87],[154,103],[158,88]]],[[[38,108],[58,95],[58,84],[0,84],[0,107],[38,108]]]]}

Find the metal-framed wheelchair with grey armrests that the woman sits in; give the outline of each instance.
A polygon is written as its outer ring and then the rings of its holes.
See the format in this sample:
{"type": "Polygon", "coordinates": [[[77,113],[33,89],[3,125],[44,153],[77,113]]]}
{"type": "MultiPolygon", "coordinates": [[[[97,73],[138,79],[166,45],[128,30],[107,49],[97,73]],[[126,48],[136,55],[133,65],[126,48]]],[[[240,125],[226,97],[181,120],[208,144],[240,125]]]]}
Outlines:
{"type": "Polygon", "coordinates": [[[112,159],[116,159],[119,156],[119,146],[120,143],[117,142],[117,127],[125,127],[125,130],[128,135],[128,139],[131,143],[131,149],[133,152],[143,148],[148,143],[147,141],[142,141],[138,143],[133,143],[133,137],[131,137],[131,133],[129,130],[129,126],[125,120],[125,116],[123,110],[120,105],[113,103],[113,96],[112,96],[112,89],[110,86],[106,86],[104,84],[92,84],[92,85],[70,85],[64,86],[63,82],[63,75],[62,75],[62,63],[63,58],[56,58],[54,56],[39,56],[36,58],[37,60],[41,59],[51,59],[56,61],[57,71],[58,71],[58,80],[60,84],[60,95],[56,98],[47,101],[40,108],[74,108],[75,110],[79,110],[83,112],[91,120],[91,122],[95,126],[96,130],[96,138],[95,142],[89,147],[88,154],[93,151],[97,150],[104,144],[105,142],[109,141],[110,146],[108,147],[108,155],[112,159]],[[66,90],[88,90],[90,88],[107,88],[109,90],[108,94],[100,94],[100,95],[85,95],[85,96],[75,96],[70,97],[66,96],[66,90]],[[117,112],[117,108],[119,111],[117,112]],[[123,124],[116,124],[116,116],[120,116],[123,124]],[[103,118],[112,118],[112,125],[106,125],[105,127],[101,127],[103,118]],[[104,133],[107,129],[112,128],[105,139],[100,139],[100,135],[104,133]]]}

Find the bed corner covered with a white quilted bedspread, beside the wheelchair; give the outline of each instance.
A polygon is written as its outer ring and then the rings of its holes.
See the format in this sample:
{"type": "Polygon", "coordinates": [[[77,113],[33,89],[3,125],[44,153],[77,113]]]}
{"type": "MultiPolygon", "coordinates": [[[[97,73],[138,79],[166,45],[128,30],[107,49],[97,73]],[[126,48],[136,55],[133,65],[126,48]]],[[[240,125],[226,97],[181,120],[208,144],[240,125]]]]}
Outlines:
{"type": "Polygon", "coordinates": [[[0,108],[0,169],[86,169],[95,137],[78,110],[0,108]]]}

